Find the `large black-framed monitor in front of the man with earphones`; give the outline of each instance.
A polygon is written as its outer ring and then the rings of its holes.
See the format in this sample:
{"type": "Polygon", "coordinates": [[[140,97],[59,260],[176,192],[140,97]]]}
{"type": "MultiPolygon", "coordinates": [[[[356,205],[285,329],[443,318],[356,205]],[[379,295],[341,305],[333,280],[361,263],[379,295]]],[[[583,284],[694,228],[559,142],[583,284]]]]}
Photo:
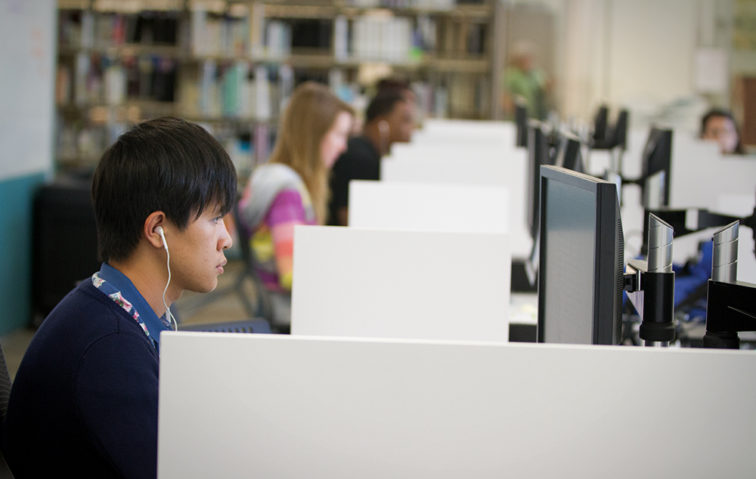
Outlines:
{"type": "Polygon", "coordinates": [[[541,167],[538,342],[619,344],[624,236],[614,183],[541,167]]]}

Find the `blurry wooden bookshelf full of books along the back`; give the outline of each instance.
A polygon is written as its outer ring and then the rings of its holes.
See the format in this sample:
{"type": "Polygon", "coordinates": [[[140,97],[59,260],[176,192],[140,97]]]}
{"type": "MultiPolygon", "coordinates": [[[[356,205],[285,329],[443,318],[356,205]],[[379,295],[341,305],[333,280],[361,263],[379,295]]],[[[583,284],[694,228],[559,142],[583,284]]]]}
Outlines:
{"type": "Polygon", "coordinates": [[[131,124],[175,115],[208,125],[242,177],[304,80],[355,102],[390,72],[423,117],[492,118],[497,4],[59,0],[57,165],[91,166],[131,124]]]}

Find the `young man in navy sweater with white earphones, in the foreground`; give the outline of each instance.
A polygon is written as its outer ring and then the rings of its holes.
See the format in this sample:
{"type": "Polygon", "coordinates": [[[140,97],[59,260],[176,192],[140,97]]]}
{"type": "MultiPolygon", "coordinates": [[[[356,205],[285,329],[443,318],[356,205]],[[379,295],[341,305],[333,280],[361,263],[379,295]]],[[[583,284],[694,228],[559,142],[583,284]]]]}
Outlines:
{"type": "Polygon", "coordinates": [[[236,172],[221,145],[175,118],[141,123],[92,182],[100,271],[50,313],[11,392],[15,477],[157,475],[160,332],[183,290],[217,286],[236,172]]]}

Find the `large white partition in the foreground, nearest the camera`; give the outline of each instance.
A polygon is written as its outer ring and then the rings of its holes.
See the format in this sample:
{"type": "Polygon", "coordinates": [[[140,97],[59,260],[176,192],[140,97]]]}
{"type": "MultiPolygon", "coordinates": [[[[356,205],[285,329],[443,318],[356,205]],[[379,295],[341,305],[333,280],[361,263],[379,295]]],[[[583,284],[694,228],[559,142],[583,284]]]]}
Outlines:
{"type": "Polygon", "coordinates": [[[175,333],[158,477],[753,477],[756,352],[175,333]]]}

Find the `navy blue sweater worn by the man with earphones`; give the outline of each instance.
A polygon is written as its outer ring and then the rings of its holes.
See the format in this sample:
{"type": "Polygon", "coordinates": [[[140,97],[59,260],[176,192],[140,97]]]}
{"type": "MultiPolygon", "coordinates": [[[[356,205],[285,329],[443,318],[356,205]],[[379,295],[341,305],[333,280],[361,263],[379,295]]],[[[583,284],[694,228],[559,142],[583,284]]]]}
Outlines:
{"type": "Polygon", "coordinates": [[[158,353],[90,280],[34,336],[13,383],[6,457],[25,477],[157,475],[158,353]]]}

